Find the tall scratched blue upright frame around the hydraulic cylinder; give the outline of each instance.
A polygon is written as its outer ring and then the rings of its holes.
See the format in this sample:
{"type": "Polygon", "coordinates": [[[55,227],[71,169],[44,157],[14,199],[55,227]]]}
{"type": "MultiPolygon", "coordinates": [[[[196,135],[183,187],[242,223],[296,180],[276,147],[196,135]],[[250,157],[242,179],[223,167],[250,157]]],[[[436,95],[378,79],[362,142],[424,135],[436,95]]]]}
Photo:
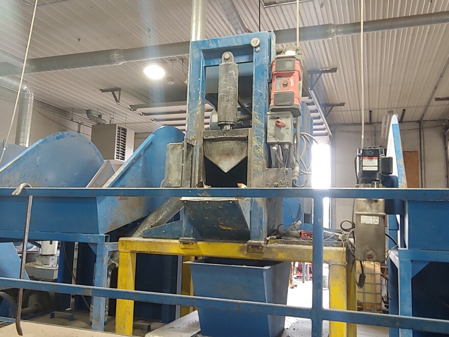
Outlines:
{"type": "MultiPolygon", "coordinates": [[[[252,63],[252,128],[248,142],[252,144],[251,165],[248,165],[248,183],[250,187],[264,186],[264,170],[268,163],[266,146],[266,123],[268,109],[268,82],[271,79],[271,56],[276,55],[275,34],[257,32],[192,41],[190,47],[189,89],[187,100],[186,140],[194,144],[192,157],[191,185],[196,186],[201,180],[200,165],[203,162],[204,105],[206,103],[206,72],[208,68],[221,63],[221,55],[231,51],[234,62],[239,68],[252,63]],[[259,46],[253,47],[251,41],[259,39],[259,46]]],[[[212,68],[211,68],[212,69],[212,68]]],[[[249,162],[249,160],[248,160],[249,162]]],[[[187,186],[186,186],[187,187],[187,186]]],[[[187,214],[186,214],[187,215],[187,214]]],[[[195,238],[195,227],[189,223],[189,216],[184,216],[183,238],[195,238]]],[[[251,206],[250,240],[262,242],[267,236],[266,207],[262,199],[254,199],[251,206]]]]}

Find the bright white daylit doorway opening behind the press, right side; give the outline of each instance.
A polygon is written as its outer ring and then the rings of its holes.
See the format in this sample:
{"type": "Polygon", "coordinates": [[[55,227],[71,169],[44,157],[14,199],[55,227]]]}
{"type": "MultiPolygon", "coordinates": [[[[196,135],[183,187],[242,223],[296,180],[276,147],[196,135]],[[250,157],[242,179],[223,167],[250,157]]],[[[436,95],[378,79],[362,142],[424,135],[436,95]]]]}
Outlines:
{"type": "MultiPolygon", "coordinates": [[[[331,187],[331,148],[329,144],[312,146],[312,188],[331,187]]],[[[330,199],[323,198],[323,227],[330,227],[330,199]]]]}

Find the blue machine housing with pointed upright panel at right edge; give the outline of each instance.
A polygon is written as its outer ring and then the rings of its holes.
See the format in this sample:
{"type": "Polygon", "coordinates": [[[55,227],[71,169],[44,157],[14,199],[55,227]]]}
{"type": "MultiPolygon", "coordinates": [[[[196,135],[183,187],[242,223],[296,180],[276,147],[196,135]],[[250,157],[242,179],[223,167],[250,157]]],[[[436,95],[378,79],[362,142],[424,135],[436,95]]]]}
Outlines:
{"type": "MultiPolygon", "coordinates": [[[[387,155],[393,157],[393,179],[387,184],[407,188],[401,135],[393,116],[387,155]]],[[[391,186],[393,187],[393,186],[391,186]]],[[[389,240],[388,268],[391,314],[436,319],[449,317],[449,202],[396,200],[387,204],[389,240]]],[[[390,336],[443,336],[429,332],[390,329],[390,336]]]]}

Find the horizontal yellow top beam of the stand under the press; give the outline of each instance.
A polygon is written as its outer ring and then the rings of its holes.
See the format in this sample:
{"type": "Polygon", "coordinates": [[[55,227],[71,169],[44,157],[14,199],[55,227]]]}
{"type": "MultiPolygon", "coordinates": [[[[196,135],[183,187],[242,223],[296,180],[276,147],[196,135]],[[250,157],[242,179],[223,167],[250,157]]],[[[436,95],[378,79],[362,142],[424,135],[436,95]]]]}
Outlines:
{"type": "MultiPolygon", "coordinates": [[[[161,240],[149,238],[121,238],[118,243],[121,252],[143,254],[187,255],[222,258],[242,258],[271,261],[312,262],[312,246],[267,244],[262,251],[248,251],[242,243],[197,242],[183,244],[178,240],[161,240]]],[[[328,264],[346,264],[346,249],[325,247],[324,262],[328,264]]]]}

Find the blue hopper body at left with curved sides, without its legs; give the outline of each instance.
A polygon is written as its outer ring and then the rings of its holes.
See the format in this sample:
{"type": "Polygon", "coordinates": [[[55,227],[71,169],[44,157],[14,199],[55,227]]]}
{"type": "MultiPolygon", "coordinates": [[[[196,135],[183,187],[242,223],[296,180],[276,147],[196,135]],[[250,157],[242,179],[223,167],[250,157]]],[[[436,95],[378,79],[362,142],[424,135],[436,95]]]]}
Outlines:
{"type": "MultiPolygon", "coordinates": [[[[103,187],[160,187],[166,145],[182,139],[183,133],[176,128],[156,130],[103,187]]],[[[17,187],[28,182],[33,187],[86,187],[103,163],[86,137],[59,132],[36,142],[1,168],[0,186],[17,187]]],[[[30,239],[40,239],[42,232],[108,233],[143,218],[163,201],[138,197],[36,198],[30,239]]],[[[0,237],[21,238],[14,232],[25,223],[26,207],[26,197],[0,198],[0,212],[8,219],[1,223],[0,237]]]]}

